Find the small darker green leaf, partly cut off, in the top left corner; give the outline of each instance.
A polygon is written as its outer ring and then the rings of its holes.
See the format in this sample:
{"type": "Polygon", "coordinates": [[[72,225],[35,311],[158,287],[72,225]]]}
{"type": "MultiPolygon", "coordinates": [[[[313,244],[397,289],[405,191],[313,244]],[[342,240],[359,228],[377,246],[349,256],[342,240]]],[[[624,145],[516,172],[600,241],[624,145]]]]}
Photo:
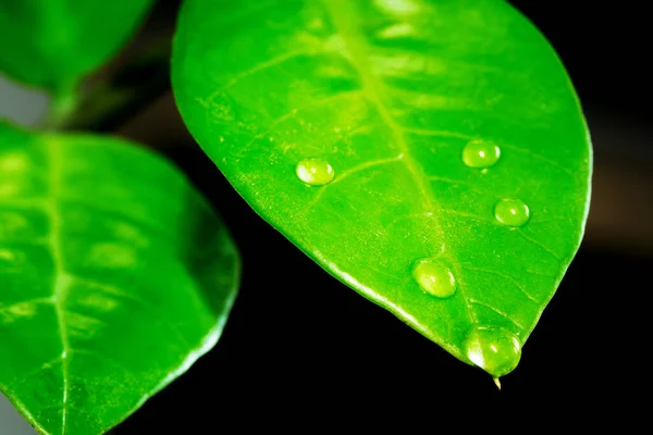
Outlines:
{"type": "Polygon", "coordinates": [[[107,62],[152,0],[2,0],[0,71],[27,84],[70,88],[107,62]]]}

